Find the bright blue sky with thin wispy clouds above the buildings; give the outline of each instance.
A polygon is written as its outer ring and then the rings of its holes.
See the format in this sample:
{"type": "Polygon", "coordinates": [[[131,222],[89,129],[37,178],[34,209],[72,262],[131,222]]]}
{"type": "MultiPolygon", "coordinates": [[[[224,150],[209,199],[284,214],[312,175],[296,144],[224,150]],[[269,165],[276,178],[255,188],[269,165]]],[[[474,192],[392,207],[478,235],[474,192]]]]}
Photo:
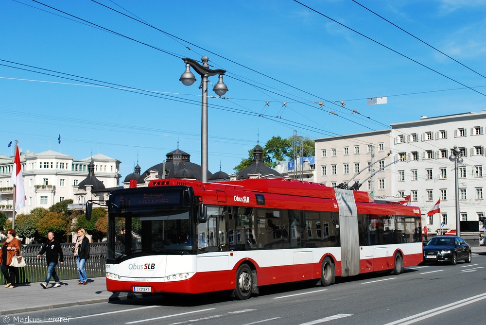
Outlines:
{"type": "Polygon", "coordinates": [[[200,164],[199,77],[178,79],[181,58],[203,55],[229,88],[219,99],[209,85],[213,173],[294,130],[314,139],[486,109],[484,0],[97,1],[1,0],[0,154],[11,140],[102,153],[124,178],[178,142],[200,164]]]}

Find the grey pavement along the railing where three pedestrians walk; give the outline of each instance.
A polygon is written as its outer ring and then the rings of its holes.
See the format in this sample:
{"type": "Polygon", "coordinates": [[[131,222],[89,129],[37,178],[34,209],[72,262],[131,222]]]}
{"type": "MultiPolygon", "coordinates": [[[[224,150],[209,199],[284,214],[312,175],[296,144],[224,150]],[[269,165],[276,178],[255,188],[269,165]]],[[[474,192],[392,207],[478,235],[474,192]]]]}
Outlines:
{"type": "MultiPolygon", "coordinates": [[[[472,255],[486,255],[486,246],[471,247],[472,255]]],[[[142,297],[141,293],[112,293],[106,291],[104,277],[88,279],[87,285],[78,285],[78,280],[61,281],[59,288],[52,288],[55,282],[51,281],[47,289],[40,286],[40,282],[18,285],[15,289],[0,287],[3,298],[8,295],[8,304],[3,304],[0,315],[52,309],[59,307],[87,305],[123,299],[142,297]]],[[[5,299],[4,299],[5,300],[5,299]]]]}

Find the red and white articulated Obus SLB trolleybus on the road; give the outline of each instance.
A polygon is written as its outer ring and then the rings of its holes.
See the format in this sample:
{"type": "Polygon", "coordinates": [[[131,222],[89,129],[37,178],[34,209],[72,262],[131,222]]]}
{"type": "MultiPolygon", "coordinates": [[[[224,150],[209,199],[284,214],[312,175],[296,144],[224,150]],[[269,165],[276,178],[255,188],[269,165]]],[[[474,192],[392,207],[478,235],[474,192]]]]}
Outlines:
{"type": "Polygon", "coordinates": [[[260,286],[329,286],[422,261],[419,208],[318,183],[160,179],[114,190],[107,205],[108,291],[243,300],[260,286]]]}

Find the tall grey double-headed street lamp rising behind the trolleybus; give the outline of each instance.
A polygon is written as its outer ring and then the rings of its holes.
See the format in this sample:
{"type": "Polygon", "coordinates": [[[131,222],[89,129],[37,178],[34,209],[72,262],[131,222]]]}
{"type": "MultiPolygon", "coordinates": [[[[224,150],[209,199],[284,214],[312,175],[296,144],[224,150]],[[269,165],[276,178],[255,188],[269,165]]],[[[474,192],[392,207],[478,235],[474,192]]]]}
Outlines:
{"type": "Polygon", "coordinates": [[[191,72],[191,67],[201,76],[202,99],[201,99],[201,181],[208,182],[208,77],[219,74],[219,81],[214,86],[213,91],[218,96],[224,96],[228,87],[223,82],[223,75],[226,70],[215,69],[208,67],[208,57],[203,56],[202,65],[190,58],[182,59],[186,64],[186,71],[181,75],[180,81],[184,86],[191,86],[196,78],[191,72]]]}

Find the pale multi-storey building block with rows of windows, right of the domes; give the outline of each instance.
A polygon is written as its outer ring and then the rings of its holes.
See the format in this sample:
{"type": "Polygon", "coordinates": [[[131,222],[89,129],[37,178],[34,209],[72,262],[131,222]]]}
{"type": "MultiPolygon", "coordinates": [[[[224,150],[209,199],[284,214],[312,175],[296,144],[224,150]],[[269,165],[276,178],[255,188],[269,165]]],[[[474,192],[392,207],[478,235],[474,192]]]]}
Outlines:
{"type": "MultiPolygon", "coordinates": [[[[486,210],[483,175],[486,111],[422,117],[391,127],[386,131],[316,139],[316,181],[335,186],[353,175],[346,173],[347,168],[371,163],[370,153],[361,151],[363,146],[375,147],[374,161],[391,151],[383,163],[379,162],[387,166],[385,170],[377,172],[360,190],[367,190],[375,199],[398,201],[410,195],[411,205],[422,211],[423,226],[429,234],[455,231],[455,168],[449,157],[451,148],[457,146],[463,159],[457,169],[460,220],[478,222],[486,210]],[[356,146],[359,154],[353,150],[356,146]],[[439,199],[441,213],[427,216],[439,199]]],[[[379,167],[375,165],[375,170],[379,167]]],[[[361,174],[357,178],[365,180],[361,174]]],[[[481,229],[482,224],[479,226],[481,229]]]]}

